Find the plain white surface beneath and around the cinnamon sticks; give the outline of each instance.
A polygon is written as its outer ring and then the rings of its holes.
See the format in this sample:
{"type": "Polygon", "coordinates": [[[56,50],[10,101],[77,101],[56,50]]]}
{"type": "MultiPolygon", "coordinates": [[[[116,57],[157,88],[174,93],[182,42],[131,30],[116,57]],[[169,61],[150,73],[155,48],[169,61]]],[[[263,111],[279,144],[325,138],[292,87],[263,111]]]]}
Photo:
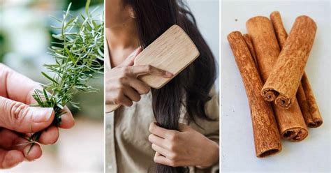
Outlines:
{"type": "Polygon", "coordinates": [[[222,172],[331,172],[330,161],[330,3],[324,2],[221,2],[221,171],[222,172]],[[286,31],[295,17],[309,15],[317,26],[316,39],[306,72],[324,119],[310,128],[302,142],[283,141],[283,150],[256,158],[251,116],[239,70],[226,36],[247,33],[245,22],[256,15],[279,10],[286,31]],[[237,22],[235,21],[237,19],[237,22]]]}

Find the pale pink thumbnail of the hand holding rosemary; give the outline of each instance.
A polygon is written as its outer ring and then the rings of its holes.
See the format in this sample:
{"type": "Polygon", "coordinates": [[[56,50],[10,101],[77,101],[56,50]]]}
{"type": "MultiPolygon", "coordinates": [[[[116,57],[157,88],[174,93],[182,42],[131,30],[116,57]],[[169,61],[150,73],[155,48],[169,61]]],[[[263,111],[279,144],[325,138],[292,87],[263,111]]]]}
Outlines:
{"type": "Polygon", "coordinates": [[[52,116],[52,107],[30,107],[30,114],[32,114],[32,121],[35,123],[43,123],[50,121],[52,116]]]}

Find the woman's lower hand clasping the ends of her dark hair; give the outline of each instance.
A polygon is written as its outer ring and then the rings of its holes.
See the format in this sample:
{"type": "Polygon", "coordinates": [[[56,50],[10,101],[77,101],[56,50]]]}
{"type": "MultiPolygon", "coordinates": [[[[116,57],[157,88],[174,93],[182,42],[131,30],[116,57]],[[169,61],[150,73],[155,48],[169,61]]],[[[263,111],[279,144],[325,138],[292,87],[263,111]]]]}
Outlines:
{"type": "Polygon", "coordinates": [[[219,144],[179,123],[179,131],[149,126],[148,140],[156,151],[154,162],[172,167],[210,167],[219,160],[219,144]]]}

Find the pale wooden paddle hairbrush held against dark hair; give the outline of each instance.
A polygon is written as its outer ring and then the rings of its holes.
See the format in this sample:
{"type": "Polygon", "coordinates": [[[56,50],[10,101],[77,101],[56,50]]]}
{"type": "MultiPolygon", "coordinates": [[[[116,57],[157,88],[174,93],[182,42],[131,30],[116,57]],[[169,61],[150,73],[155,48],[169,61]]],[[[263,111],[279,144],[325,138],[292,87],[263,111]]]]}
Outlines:
{"type": "MultiPolygon", "coordinates": [[[[171,78],[156,75],[141,75],[138,77],[149,87],[160,89],[198,57],[198,48],[191,38],[181,27],[172,25],[135,57],[133,66],[148,64],[172,73],[171,78]]],[[[115,111],[120,106],[106,104],[105,112],[115,111]]]]}

